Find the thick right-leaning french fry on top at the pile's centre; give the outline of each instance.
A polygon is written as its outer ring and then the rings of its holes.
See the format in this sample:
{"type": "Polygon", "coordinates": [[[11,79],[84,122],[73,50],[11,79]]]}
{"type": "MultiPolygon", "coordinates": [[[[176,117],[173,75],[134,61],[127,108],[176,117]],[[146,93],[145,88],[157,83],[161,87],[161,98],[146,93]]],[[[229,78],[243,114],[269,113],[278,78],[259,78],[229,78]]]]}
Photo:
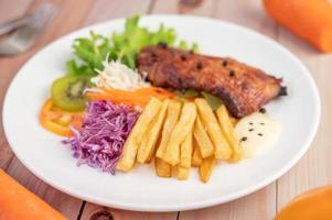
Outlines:
{"type": "Polygon", "coordinates": [[[192,102],[184,102],[179,122],[172,131],[170,141],[167,145],[163,161],[172,166],[180,162],[180,144],[184,141],[185,136],[194,125],[196,118],[196,107],[192,102]]]}

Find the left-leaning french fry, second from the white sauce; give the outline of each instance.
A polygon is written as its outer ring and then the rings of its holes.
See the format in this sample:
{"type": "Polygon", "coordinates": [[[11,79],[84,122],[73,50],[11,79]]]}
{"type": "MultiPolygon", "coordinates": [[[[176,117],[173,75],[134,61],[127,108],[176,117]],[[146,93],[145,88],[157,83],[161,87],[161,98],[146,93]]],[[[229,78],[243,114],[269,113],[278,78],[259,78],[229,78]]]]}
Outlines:
{"type": "Polygon", "coordinates": [[[206,102],[205,99],[197,98],[195,99],[195,105],[199,109],[199,114],[202,118],[203,123],[207,128],[208,136],[214,145],[214,155],[216,158],[228,160],[232,156],[232,150],[224,138],[222,130],[218,125],[218,122],[206,102]]]}

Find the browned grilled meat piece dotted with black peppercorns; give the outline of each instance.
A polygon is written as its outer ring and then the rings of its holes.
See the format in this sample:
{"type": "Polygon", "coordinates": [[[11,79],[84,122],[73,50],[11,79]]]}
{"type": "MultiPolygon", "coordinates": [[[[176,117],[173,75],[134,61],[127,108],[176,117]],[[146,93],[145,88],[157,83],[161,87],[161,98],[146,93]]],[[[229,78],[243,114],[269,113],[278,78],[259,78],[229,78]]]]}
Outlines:
{"type": "Polygon", "coordinates": [[[153,86],[204,90],[221,98],[242,118],[285,95],[282,79],[229,57],[213,57],[165,45],[148,46],[137,57],[139,73],[153,86]]]}

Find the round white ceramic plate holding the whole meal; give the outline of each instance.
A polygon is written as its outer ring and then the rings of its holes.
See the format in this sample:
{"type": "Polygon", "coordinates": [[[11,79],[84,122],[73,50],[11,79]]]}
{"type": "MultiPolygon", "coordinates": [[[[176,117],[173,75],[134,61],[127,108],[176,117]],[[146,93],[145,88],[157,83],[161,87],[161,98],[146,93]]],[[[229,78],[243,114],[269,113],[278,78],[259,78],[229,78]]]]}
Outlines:
{"type": "Polygon", "coordinates": [[[232,56],[277,77],[283,77],[289,96],[267,106],[269,116],[283,124],[276,146],[264,155],[237,164],[219,164],[207,184],[191,178],[158,178],[153,167],[139,166],[129,174],[111,176],[88,166],[76,166],[69,147],[45,131],[38,114],[51,84],[65,73],[73,40],[89,30],[110,34],[124,20],[85,28],[46,46],[31,58],[12,81],[3,107],[3,124],[19,160],[38,177],[75,197],[92,202],[139,211],[196,209],[226,202],[274,182],[308,150],[319,124],[320,99],[310,73],[286,48],[250,30],[211,19],[178,15],[144,16],[141,25],[157,29],[163,22],[180,38],[197,42],[201,52],[232,56]]]}

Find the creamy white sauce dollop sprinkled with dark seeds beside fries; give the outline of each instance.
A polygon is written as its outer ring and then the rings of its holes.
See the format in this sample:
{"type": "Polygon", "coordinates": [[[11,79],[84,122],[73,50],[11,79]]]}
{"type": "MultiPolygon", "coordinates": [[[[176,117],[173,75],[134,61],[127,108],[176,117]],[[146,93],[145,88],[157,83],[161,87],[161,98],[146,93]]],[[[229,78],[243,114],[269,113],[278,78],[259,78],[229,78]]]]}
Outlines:
{"type": "Polygon", "coordinates": [[[240,119],[235,133],[243,146],[243,156],[254,157],[275,145],[281,134],[281,123],[255,112],[240,119]]]}

